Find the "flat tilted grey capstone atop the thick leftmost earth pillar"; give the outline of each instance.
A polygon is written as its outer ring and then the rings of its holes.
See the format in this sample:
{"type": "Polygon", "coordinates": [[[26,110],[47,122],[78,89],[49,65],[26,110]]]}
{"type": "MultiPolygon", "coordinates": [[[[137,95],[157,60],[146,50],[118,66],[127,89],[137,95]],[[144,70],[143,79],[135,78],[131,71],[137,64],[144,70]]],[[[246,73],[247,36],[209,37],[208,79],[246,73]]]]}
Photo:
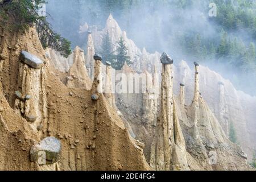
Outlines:
{"type": "Polygon", "coordinates": [[[20,59],[31,68],[40,69],[44,65],[42,60],[27,51],[22,51],[20,53],[20,59]]]}

